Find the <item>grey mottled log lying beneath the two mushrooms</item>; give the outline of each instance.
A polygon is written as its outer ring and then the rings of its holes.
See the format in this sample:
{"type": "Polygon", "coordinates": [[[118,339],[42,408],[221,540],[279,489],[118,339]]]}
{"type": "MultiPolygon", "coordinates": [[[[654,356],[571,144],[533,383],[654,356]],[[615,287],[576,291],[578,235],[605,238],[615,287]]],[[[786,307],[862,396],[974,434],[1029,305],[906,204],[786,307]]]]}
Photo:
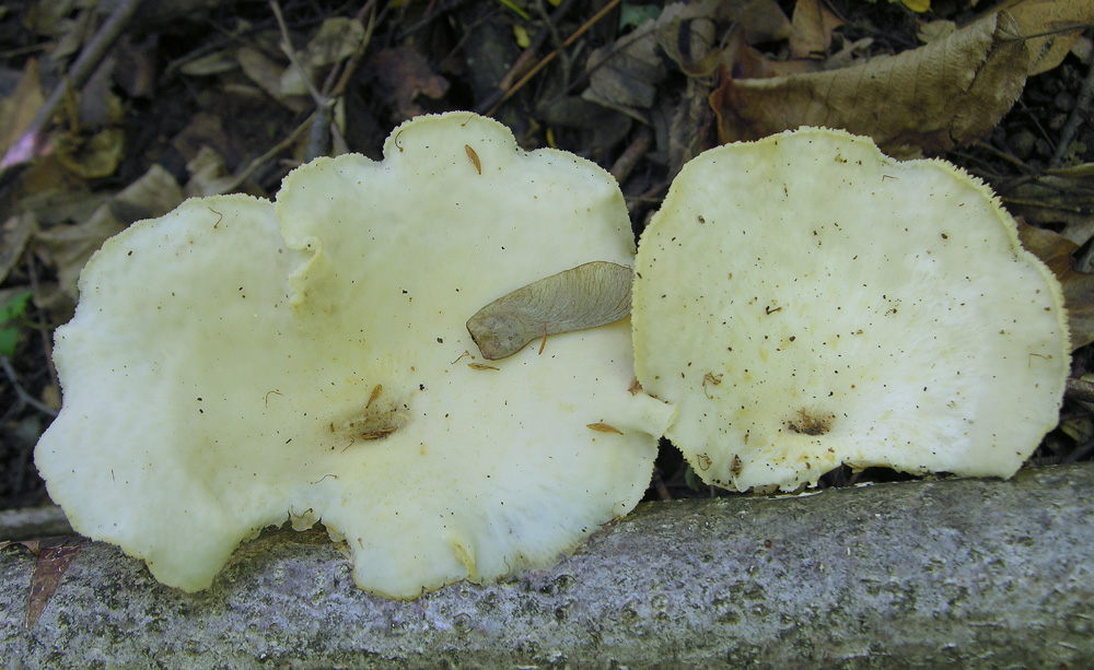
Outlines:
{"type": "Polygon", "coordinates": [[[1094,665],[1094,465],[640,506],[549,569],[412,602],[353,586],[317,531],[247,543],[209,591],[85,543],[26,625],[0,549],[7,667],[1094,665]]]}

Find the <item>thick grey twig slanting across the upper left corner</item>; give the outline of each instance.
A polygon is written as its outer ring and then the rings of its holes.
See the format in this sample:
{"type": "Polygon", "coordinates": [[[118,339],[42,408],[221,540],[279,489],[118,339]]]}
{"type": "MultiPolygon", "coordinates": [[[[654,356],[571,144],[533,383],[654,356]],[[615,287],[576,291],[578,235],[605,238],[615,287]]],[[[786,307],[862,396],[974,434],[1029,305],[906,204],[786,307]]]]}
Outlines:
{"type": "Polygon", "coordinates": [[[53,93],[49,94],[46,102],[38,108],[37,114],[34,115],[34,119],[31,120],[31,125],[27,126],[23,134],[8,149],[3,158],[0,160],[0,171],[22,165],[37,154],[42,149],[42,133],[49,124],[49,119],[54,116],[54,111],[57,110],[57,106],[65,99],[66,93],[70,89],[80,89],[88,83],[88,79],[98,67],[98,63],[121,34],[121,31],[129,24],[129,20],[132,19],[133,13],[140,4],[141,0],[121,0],[118,3],[103,26],[98,28],[95,37],[88,43],[88,46],[84,47],[79,58],[69,68],[66,77],[57,83],[53,93]]]}

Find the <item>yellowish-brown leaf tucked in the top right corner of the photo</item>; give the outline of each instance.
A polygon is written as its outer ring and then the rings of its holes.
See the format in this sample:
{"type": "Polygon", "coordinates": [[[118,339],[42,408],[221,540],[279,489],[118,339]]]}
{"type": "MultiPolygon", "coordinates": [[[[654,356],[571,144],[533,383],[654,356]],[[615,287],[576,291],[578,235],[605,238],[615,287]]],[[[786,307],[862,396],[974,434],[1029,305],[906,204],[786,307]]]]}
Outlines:
{"type": "Polygon", "coordinates": [[[1014,16],[1020,35],[1040,35],[1026,42],[1031,75],[1060,64],[1083,31],[1094,23],[1094,0],[1008,0],[997,9],[1014,16]],[[1071,26],[1078,27],[1062,31],[1071,26]]]}

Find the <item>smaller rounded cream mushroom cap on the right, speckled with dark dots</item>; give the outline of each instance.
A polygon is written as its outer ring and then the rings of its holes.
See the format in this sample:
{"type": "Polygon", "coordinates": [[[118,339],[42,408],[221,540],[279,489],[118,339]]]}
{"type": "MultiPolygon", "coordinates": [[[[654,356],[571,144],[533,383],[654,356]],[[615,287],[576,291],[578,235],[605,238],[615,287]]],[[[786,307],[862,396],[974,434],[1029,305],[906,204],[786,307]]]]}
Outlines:
{"type": "Polygon", "coordinates": [[[710,150],[644,231],[642,387],[703,481],[848,463],[1010,477],[1058,421],[1059,282],[977,179],[803,129],[710,150]]]}

